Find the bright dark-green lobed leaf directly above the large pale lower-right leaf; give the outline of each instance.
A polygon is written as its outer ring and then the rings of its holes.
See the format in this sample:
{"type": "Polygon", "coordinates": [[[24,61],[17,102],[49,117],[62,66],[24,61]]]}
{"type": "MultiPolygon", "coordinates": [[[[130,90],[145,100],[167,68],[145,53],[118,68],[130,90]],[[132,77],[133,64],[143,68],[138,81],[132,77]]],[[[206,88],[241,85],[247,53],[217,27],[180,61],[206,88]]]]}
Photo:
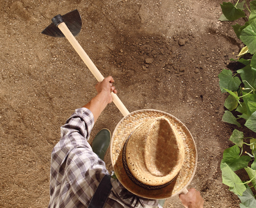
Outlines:
{"type": "Polygon", "coordinates": [[[239,156],[240,149],[237,145],[227,148],[223,152],[223,159],[221,160],[221,170],[226,163],[233,171],[240,170],[248,166],[251,157],[244,155],[239,156]]]}

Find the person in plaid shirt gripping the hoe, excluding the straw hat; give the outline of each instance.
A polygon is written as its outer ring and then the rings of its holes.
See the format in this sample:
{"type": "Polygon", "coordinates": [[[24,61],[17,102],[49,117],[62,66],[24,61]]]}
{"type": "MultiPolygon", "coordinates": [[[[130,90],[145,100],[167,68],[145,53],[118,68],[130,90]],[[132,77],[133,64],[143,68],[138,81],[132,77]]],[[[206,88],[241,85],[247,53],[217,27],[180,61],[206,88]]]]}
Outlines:
{"type": "MultiPolygon", "coordinates": [[[[87,141],[97,118],[112,102],[111,92],[117,93],[113,82],[113,78],[108,76],[97,83],[97,95],[76,109],[61,127],[60,141],[51,154],[48,208],[88,207],[102,178],[108,174],[103,159],[111,140],[109,130],[103,129],[96,135],[93,148],[87,141]],[[103,141],[103,144],[98,141],[103,141]]],[[[105,208],[161,208],[157,199],[136,196],[127,191],[117,179],[111,179],[111,185],[105,208]]],[[[179,198],[186,208],[203,208],[204,199],[194,188],[189,189],[187,194],[180,194],[179,198]]]]}

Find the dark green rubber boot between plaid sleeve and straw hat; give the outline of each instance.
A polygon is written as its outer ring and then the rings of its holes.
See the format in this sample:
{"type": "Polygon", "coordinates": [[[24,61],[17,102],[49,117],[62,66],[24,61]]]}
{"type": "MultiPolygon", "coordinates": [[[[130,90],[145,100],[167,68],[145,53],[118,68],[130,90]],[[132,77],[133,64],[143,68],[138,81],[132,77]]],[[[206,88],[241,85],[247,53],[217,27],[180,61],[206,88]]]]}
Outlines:
{"type": "Polygon", "coordinates": [[[111,132],[108,129],[102,129],[93,139],[92,149],[100,159],[104,161],[104,156],[110,145],[111,132]]]}

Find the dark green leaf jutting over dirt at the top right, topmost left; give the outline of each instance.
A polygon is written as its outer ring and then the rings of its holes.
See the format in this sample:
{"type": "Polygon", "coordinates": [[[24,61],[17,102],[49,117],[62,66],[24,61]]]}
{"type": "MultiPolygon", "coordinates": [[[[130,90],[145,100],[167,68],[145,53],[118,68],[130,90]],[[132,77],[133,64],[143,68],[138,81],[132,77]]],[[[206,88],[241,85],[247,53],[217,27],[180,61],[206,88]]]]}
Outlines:
{"type": "Polygon", "coordinates": [[[223,2],[221,9],[225,17],[230,21],[246,17],[245,13],[241,9],[237,9],[231,2],[223,2]]]}

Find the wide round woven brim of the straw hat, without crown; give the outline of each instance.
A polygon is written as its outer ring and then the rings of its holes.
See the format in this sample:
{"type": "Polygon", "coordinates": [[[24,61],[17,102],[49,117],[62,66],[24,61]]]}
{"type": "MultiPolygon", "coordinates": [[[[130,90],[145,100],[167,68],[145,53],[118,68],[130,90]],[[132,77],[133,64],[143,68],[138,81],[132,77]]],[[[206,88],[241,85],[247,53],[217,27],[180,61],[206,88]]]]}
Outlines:
{"type": "Polygon", "coordinates": [[[113,131],[110,150],[111,163],[119,182],[131,193],[147,199],[166,199],[171,196],[176,196],[190,184],[195,175],[197,150],[191,133],[179,119],[160,110],[137,110],[122,118],[113,131]],[[150,118],[158,118],[161,116],[169,119],[183,139],[185,158],[178,176],[170,185],[160,189],[148,190],[135,184],[129,178],[122,163],[122,151],[126,139],[140,124],[150,118]]]}

